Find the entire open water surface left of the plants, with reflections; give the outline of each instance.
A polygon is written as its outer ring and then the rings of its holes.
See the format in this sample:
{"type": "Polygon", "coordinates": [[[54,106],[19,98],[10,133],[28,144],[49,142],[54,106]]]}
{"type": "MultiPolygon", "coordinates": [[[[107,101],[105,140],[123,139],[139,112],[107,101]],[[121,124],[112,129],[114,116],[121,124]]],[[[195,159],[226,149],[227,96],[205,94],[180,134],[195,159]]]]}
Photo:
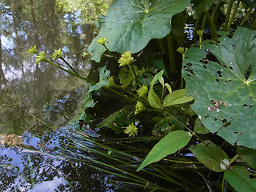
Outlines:
{"type": "MultiPolygon", "coordinates": [[[[90,62],[82,52],[93,25],[81,24],[78,12],[66,14],[54,1],[40,0],[1,0],[0,24],[0,191],[111,191],[113,186],[96,179],[100,171],[67,161],[63,156],[70,152],[60,150],[71,145],[66,136],[73,137],[72,128],[65,125],[86,82],[47,63],[35,64],[27,52],[36,45],[50,58],[62,48],[66,60],[86,76],[90,62]]],[[[93,131],[87,134],[95,137],[93,131]]],[[[82,150],[73,152],[68,155],[79,158],[82,150]]]]}

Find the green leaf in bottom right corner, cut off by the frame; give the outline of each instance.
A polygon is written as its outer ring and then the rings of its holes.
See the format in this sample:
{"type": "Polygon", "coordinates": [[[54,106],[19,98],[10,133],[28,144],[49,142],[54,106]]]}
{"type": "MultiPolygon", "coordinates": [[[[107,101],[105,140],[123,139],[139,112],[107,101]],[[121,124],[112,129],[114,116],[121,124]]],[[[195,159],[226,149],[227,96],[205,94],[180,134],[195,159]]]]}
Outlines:
{"type": "Polygon", "coordinates": [[[226,170],[224,178],[238,192],[256,191],[256,174],[249,172],[244,166],[233,166],[226,170]]]}

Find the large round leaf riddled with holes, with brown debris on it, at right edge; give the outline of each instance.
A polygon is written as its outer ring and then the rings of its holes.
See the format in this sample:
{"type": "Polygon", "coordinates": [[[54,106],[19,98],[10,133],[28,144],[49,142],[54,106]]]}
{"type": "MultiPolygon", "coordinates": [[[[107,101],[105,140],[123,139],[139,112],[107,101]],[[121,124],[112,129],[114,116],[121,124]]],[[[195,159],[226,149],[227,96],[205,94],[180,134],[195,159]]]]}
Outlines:
{"type": "Polygon", "coordinates": [[[238,27],[232,38],[220,40],[187,50],[186,91],[208,130],[256,149],[256,31],[238,27]]]}

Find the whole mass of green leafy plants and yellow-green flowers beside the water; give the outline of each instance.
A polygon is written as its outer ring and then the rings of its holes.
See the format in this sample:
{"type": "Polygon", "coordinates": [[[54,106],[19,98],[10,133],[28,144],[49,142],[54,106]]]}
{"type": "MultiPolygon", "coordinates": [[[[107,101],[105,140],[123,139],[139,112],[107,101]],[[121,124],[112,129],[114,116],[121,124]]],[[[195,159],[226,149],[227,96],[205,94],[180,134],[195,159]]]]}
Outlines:
{"type": "MultiPolygon", "coordinates": [[[[36,46],[30,53],[36,62],[88,82],[73,119],[80,128],[90,124],[87,110],[97,107],[95,98],[112,95],[122,105],[95,127],[108,127],[120,138],[126,134],[129,142],[161,138],[143,160],[136,159],[136,166],[129,162],[134,171],[150,170],[154,162],[176,162],[189,165],[209,191],[230,186],[255,191],[255,6],[250,0],[116,0],[99,18],[98,34],[88,48],[94,66],[108,60],[98,67],[98,82],[78,74],[61,49],[55,50],[54,62],[36,46]],[[208,172],[200,172],[202,165],[208,172]],[[217,183],[210,180],[212,172],[217,183]]],[[[150,185],[154,182],[138,186],[162,190],[150,185]]],[[[190,183],[178,186],[192,189],[190,183]]]]}

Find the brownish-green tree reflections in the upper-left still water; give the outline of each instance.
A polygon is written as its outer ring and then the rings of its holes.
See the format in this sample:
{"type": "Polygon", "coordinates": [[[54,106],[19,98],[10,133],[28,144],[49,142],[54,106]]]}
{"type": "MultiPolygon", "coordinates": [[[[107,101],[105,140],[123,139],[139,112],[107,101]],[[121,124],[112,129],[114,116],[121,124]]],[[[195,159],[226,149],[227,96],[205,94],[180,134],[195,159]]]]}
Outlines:
{"type": "Polygon", "coordinates": [[[50,57],[54,50],[62,48],[74,69],[84,73],[86,61],[81,55],[90,41],[86,38],[84,42],[81,33],[91,37],[94,27],[78,26],[74,23],[75,13],[57,13],[54,1],[3,1],[0,10],[0,134],[42,128],[44,125],[37,118],[63,123],[81,96],[82,90],[77,87],[84,87],[85,83],[49,64],[35,64],[27,50],[36,45],[50,57]],[[46,103],[53,106],[53,111],[42,113],[46,103]],[[64,106],[68,107],[63,110],[64,106]]]}

